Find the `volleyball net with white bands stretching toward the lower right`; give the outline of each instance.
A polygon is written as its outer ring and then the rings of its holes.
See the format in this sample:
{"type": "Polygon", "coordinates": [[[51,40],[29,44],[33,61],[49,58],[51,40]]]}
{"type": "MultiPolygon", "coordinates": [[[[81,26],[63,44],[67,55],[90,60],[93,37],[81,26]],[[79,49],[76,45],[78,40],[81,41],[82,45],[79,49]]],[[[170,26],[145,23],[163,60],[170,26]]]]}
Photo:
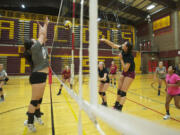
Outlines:
{"type": "MultiPolygon", "coordinates": [[[[63,90],[66,90],[68,95],[78,105],[78,134],[84,134],[82,112],[85,112],[101,135],[106,134],[106,132],[102,130],[99,121],[103,121],[121,134],[178,135],[179,132],[174,129],[169,129],[142,118],[118,112],[111,107],[100,105],[97,95],[97,69],[98,61],[105,61],[103,59],[105,57],[98,57],[99,53],[103,53],[104,51],[103,48],[99,49],[98,45],[98,37],[103,38],[103,35],[98,35],[98,1],[90,0],[84,2],[84,0],[81,0],[78,3],[78,8],[80,8],[79,18],[74,18],[75,9],[77,9],[75,8],[76,4],[75,0],[70,3],[66,0],[61,0],[57,23],[55,24],[50,59],[53,72],[52,85],[57,85],[56,88],[58,88],[62,84],[64,87],[63,90]],[[89,7],[88,26],[84,25],[84,13],[87,12],[84,10],[84,7],[87,5],[89,7]],[[70,12],[72,17],[66,18],[66,15],[69,13],[68,10],[71,9],[73,9],[70,12]],[[62,18],[66,19],[63,20],[62,18]],[[89,32],[85,31],[86,29],[89,29],[89,32]],[[88,36],[85,37],[86,35],[88,36]],[[70,88],[67,82],[62,81],[62,72],[67,66],[71,68],[72,88],[70,88]]],[[[112,58],[110,59],[112,60],[112,58]]],[[[105,63],[109,64],[106,61],[105,63]]]]}

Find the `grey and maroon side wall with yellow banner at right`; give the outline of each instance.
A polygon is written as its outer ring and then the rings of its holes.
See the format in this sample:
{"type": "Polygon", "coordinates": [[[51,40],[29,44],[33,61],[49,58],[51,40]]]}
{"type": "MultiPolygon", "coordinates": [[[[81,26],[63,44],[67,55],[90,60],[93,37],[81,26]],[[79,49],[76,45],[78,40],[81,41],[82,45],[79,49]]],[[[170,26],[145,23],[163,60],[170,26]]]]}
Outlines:
{"type": "MultiPolygon", "coordinates": [[[[151,64],[159,60],[164,61],[166,66],[180,63],[180,11],[172,13],[164,13],[153,18],[151,23],[141,24],[137,28],[137,43],[140,44],[143,40],[150,40],[152,50],[142,53],[142,65],[144,73],[150,72],[151,64]],[[169,17],[169,21],[168,21],[169,17]],[[154,26],[156,23],[156,26],[154,26]],[[169,24],[168,24],[169,23],[169,24]],[[142,26],[142,27],[140,27],[142,26]],[[144,33],[144,34],[143,34],[144,33]]],[[[155,69],[155,67],[152,67],[155,69]]]]}

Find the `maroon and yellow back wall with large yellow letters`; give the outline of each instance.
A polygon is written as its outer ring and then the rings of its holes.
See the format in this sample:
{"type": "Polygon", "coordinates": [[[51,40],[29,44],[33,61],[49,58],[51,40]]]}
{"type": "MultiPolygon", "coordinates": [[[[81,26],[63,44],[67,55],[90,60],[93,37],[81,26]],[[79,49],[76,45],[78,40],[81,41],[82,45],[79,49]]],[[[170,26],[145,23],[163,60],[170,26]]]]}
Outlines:
{"type": "MultiPolygon", "coordinates": [[[[23,12],[21,12],[23,14],[23,12]]],[[[26,13],[27,14],[27,13],[26,13]]],[[[22,15],[21,15],[22,16],[22,15]]],[[[0,17],[0,63],[4,63],[8,74],[11,75],[24,75],[30,73],[30,67],[26,60],[22,57],[23,43],[25,39],[34,38],[38,36],[38,25],[35,20],[26,19],[24,16],[20,18],[2,16],[0,17]]],[[[42,22],[40,22],[42,23],[42,22]]],[[[49,51],[53,42],[54,32],[55,35],[56,52],[54,52],[56,61],[59,60],[57,71],[60,72],[61,64],[68,64],[71,60],[71,31],[64,28],[63,24],[55,25],[51,22],[48,26],[48,40],[46,46],[49,51]],[[61,49],[59,48],[61,47],[61,49]],[[62,51],[63,50],[63,51],[62,51]]],[[[75,72],[79,68],[79,25],[75,27],[75,72]]],[[[117,34],[115,28],[99,28],[99,38],[107,38],[112,41],[117,41],[119,38],[129,40],[131,43],[135,43],[134,28],[121,30],[121,36],[117,34]]],[[[83,60],[83,72],[89,72],[89,60],[88,60],[88,26],[84,26],[83,30],[83,48],[84,48],[84,60],[83,60]]],[[[135,60],[137,63],[137,71],[140,73],[140,55],[134,52],[135,60]]],[[[109,67],[112,60],[115,60],[119,66],[119,59],[117,55],[112,54],[112,49],[107,45],[99,44],[99,61],[104,61],[106,66],[109,67]]]]}

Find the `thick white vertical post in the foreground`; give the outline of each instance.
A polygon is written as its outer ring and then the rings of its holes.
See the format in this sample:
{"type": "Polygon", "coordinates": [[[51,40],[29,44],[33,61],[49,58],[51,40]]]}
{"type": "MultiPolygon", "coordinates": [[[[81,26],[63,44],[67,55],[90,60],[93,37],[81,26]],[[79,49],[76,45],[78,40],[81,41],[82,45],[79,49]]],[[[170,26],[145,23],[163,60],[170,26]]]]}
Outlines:
{"type": "Polygon", "coordinates": [[[89,69],[90,69],[90,102],[97,106],[98,85],[98,0],[89,1],[89,69]]]}

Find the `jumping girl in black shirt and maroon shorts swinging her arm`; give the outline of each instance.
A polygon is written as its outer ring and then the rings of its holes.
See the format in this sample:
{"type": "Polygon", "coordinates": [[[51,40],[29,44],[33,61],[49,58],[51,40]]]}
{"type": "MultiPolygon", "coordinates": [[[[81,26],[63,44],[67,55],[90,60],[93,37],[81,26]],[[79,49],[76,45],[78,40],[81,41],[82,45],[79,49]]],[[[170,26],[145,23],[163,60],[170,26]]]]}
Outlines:
{"type": "Polygon", "coordinates": [[[126,100],[126,93],[135,78],[135,63],[132,55],[132,45],[127,41],[122,45],[116,45],[106,39],[101,39],[100,41],[108,44],[112,48],[122,50],[119,54],[119,58],[123,67],[123,72],[118,81],[117,99],[114,105],[115,109],[121,111],[126,100]]]}

